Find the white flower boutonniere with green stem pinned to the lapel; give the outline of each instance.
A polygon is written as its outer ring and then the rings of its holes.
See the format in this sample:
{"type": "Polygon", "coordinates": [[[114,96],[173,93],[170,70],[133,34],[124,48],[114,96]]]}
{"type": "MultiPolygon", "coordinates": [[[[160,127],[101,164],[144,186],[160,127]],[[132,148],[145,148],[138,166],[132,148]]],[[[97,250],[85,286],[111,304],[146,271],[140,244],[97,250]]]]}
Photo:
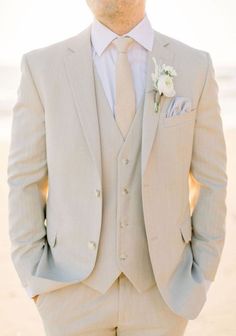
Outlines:
{"type": "Polygon", "coordinates": [[[158,66],[155,57],[152,58],[155,66],[155,72],[152,73],[153,90],[154,90],[154,108],[155,112],[159,111],[162,96],[174,97],[174,77],[177,76],[175,69],[166,64],[158,66]],[[159,98],[157,99],[157,97],[159,98]]]}

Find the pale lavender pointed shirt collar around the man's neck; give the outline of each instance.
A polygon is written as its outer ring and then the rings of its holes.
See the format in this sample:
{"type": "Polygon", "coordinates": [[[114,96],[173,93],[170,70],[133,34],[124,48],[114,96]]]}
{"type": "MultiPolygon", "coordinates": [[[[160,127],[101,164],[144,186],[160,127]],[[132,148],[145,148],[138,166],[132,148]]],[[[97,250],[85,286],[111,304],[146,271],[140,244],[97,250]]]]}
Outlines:
{"type": "MultiPolygon", "coordinates": [[[[140,21],[127,34],[124,34],[124,36],[130,36],[145,49],[149,51],[152,50],[154,31],[146,14],[142,21],[140,21]]],[[[94,18],[91,27],[91,40],[98,56],[103,53],[103,51],[116,37],[119,37],[119,35],[94,18]]]]}

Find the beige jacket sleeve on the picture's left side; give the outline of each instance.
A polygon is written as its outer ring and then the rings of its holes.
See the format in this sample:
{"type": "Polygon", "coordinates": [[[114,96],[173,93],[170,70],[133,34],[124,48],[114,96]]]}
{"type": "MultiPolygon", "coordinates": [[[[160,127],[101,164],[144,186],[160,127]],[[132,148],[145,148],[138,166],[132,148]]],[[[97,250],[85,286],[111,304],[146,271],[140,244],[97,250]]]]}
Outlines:
{"type": "Polygon", "coordinates": [[[22,57],[21,72],[8,156],[8,203],[11,258],[27,287],[46,241],[47,161],[44,109],[27,54],[22,57]]]}

